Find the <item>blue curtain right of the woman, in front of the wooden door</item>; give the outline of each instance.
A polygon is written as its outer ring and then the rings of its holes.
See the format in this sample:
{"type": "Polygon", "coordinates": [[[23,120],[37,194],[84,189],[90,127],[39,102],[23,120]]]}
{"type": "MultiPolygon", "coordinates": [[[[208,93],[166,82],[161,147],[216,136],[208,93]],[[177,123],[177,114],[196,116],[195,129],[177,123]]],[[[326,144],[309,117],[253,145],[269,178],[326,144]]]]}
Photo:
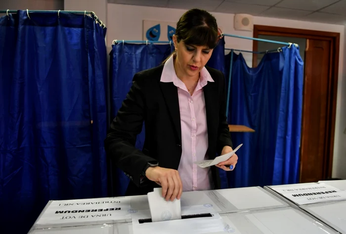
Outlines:
{"type": "MultiPolygon", "coordinates": [[[[225,64],[229,70],[230,54],[225,64]]],[[[229,187],[298,183],[302,91],[299,48],[267,53],[256,68],[241,53],[233,55],[229,123],[255,133],[231,134],[243,146],[236,169],[227,174],[229,187]]]]}

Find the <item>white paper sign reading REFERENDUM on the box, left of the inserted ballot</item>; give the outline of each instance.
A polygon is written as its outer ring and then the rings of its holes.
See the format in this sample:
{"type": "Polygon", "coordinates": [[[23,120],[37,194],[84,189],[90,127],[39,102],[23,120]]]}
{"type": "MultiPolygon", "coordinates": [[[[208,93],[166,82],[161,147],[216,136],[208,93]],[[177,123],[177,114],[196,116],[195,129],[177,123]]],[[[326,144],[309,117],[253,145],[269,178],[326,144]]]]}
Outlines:
{"type": "Polygon", "coordinates": [[[40,228],[71,227],[130,220],[130,198],[50,201],[35,224],[40,228]]]}

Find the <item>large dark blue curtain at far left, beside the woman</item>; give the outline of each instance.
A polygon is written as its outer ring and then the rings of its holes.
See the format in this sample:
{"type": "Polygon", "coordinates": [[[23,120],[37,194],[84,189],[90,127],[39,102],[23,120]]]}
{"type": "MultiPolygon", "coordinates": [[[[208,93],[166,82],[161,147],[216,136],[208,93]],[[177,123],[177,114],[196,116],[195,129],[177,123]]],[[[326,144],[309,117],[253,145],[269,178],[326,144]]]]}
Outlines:
{"type": "Polygon", "coordinates": [[[48,200],[107,195],[106,30],[83,14],[29,16],[0,18],[4,233],[27,233],[48,200]]]}

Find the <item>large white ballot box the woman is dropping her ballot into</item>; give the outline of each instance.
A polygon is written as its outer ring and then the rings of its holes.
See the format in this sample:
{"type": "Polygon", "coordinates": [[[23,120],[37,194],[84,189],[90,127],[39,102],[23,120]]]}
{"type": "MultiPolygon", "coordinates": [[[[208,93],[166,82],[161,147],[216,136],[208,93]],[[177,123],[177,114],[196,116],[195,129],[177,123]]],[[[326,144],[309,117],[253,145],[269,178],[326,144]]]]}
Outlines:
{"type": "MultiPolygon", "coordinates": [[[[319,186],[317,183],[314,184],[319,186]]],[[[292,186],[298,185],[290,185],[290,189],[293,189],[292,186]]],[[[49,201],[29,233],[292,234],[293,231],[295,234],[338,233],[335,227],[339,227],[340,224],[333,227],[333,222],[325,220],[329,222],[325,225],[320,221],[321,217],[315,217],[307,212],[313,207],[311,204],[306,206],[306,209],[302,209],[301,205],[292,205],[294,203],[292,200],[285,199],[283,195],[275,192],[275,189],[278,190],[275,187],[274,189],[244,187],[183,192],[178,204],[174,202],[164,204],[162,197],[161,201],[152,203],[150,194],[49,201]],[[154,207],[153,204],[158,207],[154,207]],[[170,212],[161,212],[165,211],[163,207],[169,206],[173,206],[171,210],[167,210],[170,212]],[[179,218],[173,219],[174,215],[179,218]]],[[[160,191],[157,194],[160,194],[160,191]]],[[[334,200],[330,204],[333,202],[345,201],[334,200]]],[[[342,228],[342,224],[340,227],[342,228]]]]}

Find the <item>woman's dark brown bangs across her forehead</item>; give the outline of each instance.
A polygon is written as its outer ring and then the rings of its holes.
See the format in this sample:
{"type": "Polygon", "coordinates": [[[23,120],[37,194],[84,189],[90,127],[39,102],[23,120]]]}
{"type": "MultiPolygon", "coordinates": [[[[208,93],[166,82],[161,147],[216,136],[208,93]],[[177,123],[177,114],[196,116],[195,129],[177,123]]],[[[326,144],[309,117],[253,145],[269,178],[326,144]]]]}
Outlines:
{"type": "Polygon", "coordinates": [[[186,32],[186,37],[182,38],[186,45],[206,46],[213,49],[217,46],[217,32],[208,26],[197,26],[186,32]]]}

